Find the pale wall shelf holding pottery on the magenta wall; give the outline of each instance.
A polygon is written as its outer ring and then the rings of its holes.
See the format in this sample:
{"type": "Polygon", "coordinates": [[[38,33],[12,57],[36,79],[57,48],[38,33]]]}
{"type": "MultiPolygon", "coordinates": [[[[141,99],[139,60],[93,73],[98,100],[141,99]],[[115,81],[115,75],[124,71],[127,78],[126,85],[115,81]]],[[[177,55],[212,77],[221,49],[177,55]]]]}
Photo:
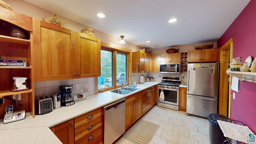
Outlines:
{"type": "Polygon", "coordinates": [[[238,71],[231,71],[228,69],[226,73],[230,76],[237,77],[240,81],[248,81],[256,83],[256,72],[238,72],[238,71]]]}

